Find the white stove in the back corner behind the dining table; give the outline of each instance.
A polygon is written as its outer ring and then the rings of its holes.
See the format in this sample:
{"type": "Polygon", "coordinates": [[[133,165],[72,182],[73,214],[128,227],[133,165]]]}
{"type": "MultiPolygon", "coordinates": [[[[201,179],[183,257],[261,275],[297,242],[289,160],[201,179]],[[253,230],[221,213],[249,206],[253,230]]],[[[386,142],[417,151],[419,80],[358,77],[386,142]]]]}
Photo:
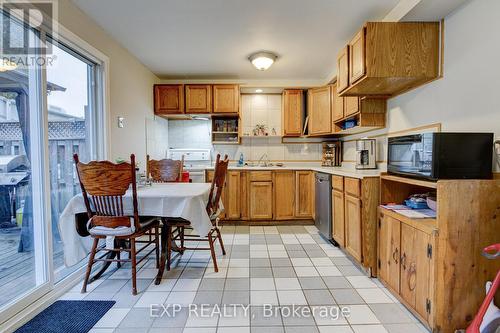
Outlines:
{"type": "Polygon", "coordinates": [[[198,148],[170,148],[167,158],[180,160],[184,156],[184,170],[189,171],[189,178],[193,183],[205,182],[205,170],[212,166],[210,149],[198,148]]]}

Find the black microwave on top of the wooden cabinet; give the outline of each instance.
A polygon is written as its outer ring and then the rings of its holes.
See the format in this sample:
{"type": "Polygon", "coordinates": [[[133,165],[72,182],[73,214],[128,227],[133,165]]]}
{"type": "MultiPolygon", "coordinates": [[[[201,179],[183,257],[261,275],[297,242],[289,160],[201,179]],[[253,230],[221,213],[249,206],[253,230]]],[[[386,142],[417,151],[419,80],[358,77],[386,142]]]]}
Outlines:
{"type": "Polygon", "coordinates": [[[493,133],[422,133],[388,139],[387,171],[438,179],[490,179],[493,133]]]}

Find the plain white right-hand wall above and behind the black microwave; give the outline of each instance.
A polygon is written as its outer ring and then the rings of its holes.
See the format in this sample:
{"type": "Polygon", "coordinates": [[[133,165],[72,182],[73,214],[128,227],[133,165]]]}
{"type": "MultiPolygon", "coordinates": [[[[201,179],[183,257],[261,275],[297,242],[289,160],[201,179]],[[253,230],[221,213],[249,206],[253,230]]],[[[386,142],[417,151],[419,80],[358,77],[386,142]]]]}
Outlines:
{"type": "MultiPolygon", "coordinates": [[[[498,0],[472,0],[448,15],[444,78],[390,99],[386,129],[365,135],[441,123],[442,131],[494,132],[500,139],[499,13],[498,0]]],[[[386,138],[378,141],[385,161],[386,138]]],[[[354,142],[344,145],[345,160],[354,159],[353,147],[354,142]]]]}

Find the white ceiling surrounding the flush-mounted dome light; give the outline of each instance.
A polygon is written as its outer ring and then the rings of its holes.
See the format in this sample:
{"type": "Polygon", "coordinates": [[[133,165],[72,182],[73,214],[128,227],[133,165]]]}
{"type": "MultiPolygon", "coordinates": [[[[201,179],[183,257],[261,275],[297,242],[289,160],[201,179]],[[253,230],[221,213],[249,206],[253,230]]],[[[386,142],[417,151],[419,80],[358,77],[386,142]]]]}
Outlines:
{"type": "Polygon", "coordinates": [[[73,0],[163,79],[327,80],[337,52],[398,0],[73,0]],[[248,56],[275,52],[267,71],[248,56]]]}

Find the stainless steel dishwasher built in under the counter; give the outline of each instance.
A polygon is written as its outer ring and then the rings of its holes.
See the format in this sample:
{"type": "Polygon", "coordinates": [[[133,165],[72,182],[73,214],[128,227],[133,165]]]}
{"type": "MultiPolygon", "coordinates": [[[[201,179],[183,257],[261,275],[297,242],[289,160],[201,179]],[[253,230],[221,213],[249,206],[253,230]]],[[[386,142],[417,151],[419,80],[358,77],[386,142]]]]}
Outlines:
{"type": "Polygon", "coordinates": [[[315,224],[320,234],[331,241],[332,239],[332,176],[327,173],[316,172],[316,219],[315,224]]]}

